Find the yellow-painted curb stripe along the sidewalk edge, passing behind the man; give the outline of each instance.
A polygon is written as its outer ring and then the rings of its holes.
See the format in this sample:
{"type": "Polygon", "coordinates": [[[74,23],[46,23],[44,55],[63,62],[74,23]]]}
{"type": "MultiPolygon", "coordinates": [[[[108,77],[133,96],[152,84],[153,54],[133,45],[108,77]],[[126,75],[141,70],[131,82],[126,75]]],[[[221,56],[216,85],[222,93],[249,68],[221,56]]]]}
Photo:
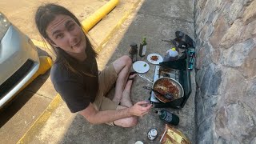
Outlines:
{"type": "MultiPolygon", "coordinates": [[[[114,0],[116,1],[116,0],[114,0]]],[[[106,45],[106,42],[110,40],[110,38],[114,35],[114,32],[116,32],[120,26],[122,25],[123,22],[126,21],[128,16],[138,7],[138,4],[142,0],[138,0],[137,2],[134,3],[134,6],[124,14],[124,16],[121,18],[121,20],[118,21],[118,24],[114,26],[114,29],[110,31],[110,34],[106,36],[106,38],[100,43],[98,46],[98,49],[100,52],[102,50],[102,47],[106,45]]],[[[118,4],[118,3],[116,3],[118,4]]],[[[113,8],[114,9],[114,8],[113,8]]],[[[111,9],[112,10],[112,9],[111,9]]],[[[101,20],[101,19],[99,19],[101,20]]],[[[83,21],[84,22],[84,21],[83,21]]],[[[97,22],[95,23],[97,24],[97,22]]],[[[47,47],[47,44],[45,42],[40,42],[37,40],[32,39],[34,42],[34,45],[40,46],[40,47],[47,47]]],[[[29,143],[31,139],[34,138],[34,135],[38,133],[38,131],[42,128],[42,126],[45,124],[45,122],[50,118],[50,115],[56,110],[56,108],[59,106],[59,104],[62,102],[62,98],[59,94],[57,94],[53,101],[50,102],[49,106],[47,106],[46,110],[43,111],[43,113],[38,117],[38,119],[33,123],[33,125],[30,127],[29,130],[26,131],[26,133],[18,140],[18,144],[23,144],[23,143],[29,143]]]]}

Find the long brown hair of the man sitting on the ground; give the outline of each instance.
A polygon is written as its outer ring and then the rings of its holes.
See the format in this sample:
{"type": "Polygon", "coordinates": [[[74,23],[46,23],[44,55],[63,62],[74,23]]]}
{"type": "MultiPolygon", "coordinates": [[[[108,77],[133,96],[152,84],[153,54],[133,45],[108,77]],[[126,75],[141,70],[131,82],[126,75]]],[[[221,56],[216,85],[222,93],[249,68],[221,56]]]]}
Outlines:
{"type": "MultiPolygon", "coordinates": [[[[74,14],[72,14],[65,7],[58,6],[54,3],[48,3],[44,6],[39,6],[38,10],[36,11],[36,14],[35,14],[35,23],[38,27],[39,33],[42,35],[42,37],[44,39],[46,39],[46,38],[50,39],[48,37],[48,35],[46,34],[46,27],[59,14],[64,14],[64,15],[70,16],[70,18],[73,18],[74,21],[78,24],[78,26],[80,26],[82,28],[82,25],[79,22],[78,18],[76,18],[74,16],[74,14]]],[[[83,30],[83,28],[82,28],[82,30],[83,30]]],[[[96,58],[98,56],[98,54],[93,49],[93,46],[91,45],[91,43],[89,41],[89,38],[86,36],[85,30],[83,30],[83,33],[85,34],[85,37],[86,37],[86,55],[87,55],[88,59],[96,58]]],[[[62,50],[59,47],[54,47],[51,44],[50,44],[50,46],[54,50],[54,54],[56,54],[58,61],[62,62],[68,70],[71,70],[72,72],[74,72],[76,74],[80,74],[80,71],[75,70],[74,67],[70,65],[70,62],[66,58],[66,54],[65,54],[66,52],[64,50],[62,50]]],[[[94,68],[98,69],[97,66],[94,68]]],[[[93,75],[90,74],[89,71],[82,71],[82,73],[86,74],[88,76],[91,76],[91,77],[95,76],[94,74],[93,75]]]]}

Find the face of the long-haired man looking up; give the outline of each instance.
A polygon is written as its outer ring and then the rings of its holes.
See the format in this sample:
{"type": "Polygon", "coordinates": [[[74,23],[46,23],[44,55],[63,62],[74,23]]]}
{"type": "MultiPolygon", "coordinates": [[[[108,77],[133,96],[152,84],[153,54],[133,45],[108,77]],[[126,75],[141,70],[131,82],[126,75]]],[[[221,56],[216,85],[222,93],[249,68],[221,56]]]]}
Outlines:
{"type": "Polygon", "coordinates": [[[86,37],[82,28],[70,16],[59,14],[46,28],[46,39],[69,54],[84,54],[86,37]]]}

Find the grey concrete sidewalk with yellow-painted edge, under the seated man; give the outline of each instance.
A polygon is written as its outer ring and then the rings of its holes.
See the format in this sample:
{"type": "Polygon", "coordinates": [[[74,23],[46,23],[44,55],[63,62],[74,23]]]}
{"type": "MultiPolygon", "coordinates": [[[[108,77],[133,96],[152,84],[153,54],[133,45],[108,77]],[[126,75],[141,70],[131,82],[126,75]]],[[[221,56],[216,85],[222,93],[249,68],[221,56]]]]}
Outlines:
{"type": "MultiPolygon", "coordinates": [[[[111,30],[106,38],[102,38],[101,41],[94,39],[97,46],[102,46],[98,58],[100,70],[115,59],[128,54],[130,43],[139,44],[144,36],[146,36],[148,44],[146,54],[161,55],[164,55],[166,50],[172,47],[170,43],[162,42],[162,39],[174,39],[174,32],[177,30],[181,30],[194,39],[194,1],[121,1],[89,34],[94,38],[95,35],[100,34],[101,29],[110,27],[111,30]],[[117,15],[118,17],[116,17],[117,15]],[[114,20],[117,22],[113,22],[114,20]],[[108,26],[109,21],[115,24],[108,26]]],[[[146,62],[146,57],[139,59],[146,62]]],[[[150,64],[150,70],[145,75],[153,79],[154,65],[150,64]]],[[[180,123],[175,128],[181,130],[192,143],[195,143],[194,71],[191,73],[191,80],[193,90],[185,106],[181,110],[170,108],[166,108],[166,110],[178,115],[180,123]]],[[[143,90],[142,86],[151,86],[151,84],[142,78],[135,78],[131,96],[133,102],[150,97],[149,92],[143,90]]],[[[158,109],[153,108],[149,114],[139,118],[138,125],[133,128],[105,124],[91,125],[81,115],[71,114],[65,102],[56,96],[19,142],[134,143],[142,141],[144,143],[159,143],[159,137],[154,141],[147,138],[147,132],[151,128],[157,129],[160,134],[164,129],[165,122],[160,121],[158,115],[154,114],[154,110],[158,109]]]]}

